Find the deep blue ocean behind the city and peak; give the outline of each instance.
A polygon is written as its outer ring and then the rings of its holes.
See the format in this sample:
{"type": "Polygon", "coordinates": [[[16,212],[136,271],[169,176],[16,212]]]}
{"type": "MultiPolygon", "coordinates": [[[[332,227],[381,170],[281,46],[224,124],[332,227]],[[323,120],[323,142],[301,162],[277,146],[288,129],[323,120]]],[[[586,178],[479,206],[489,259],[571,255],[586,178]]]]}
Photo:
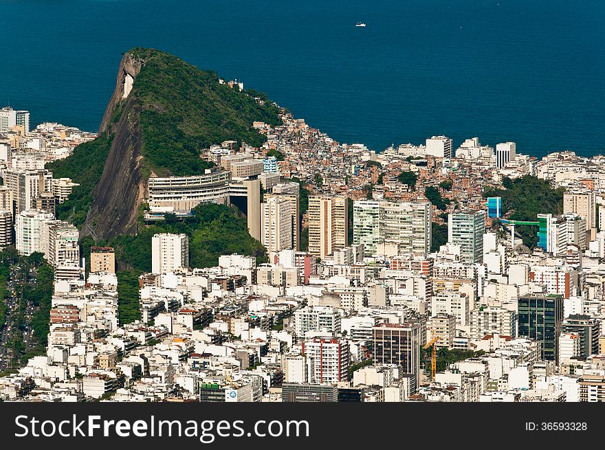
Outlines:
{"type": "Polygon", "coordinates": [[[96,131],[122,52],[144,46],[340,142],[605,150],[602,0],[0,0],[0,19],[0,106],[32,125],[96,131]]]}

